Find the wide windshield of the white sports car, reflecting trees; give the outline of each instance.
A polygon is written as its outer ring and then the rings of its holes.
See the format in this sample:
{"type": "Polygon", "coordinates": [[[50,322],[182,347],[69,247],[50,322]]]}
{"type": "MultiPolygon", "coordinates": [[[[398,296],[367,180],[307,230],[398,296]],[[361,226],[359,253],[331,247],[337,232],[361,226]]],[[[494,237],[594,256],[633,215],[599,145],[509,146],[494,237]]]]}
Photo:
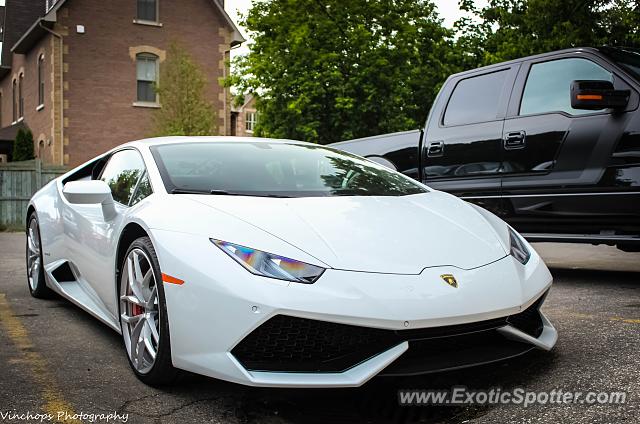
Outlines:
{"type": "Polygon", "coordinates": [[[169,193],[403,196],[421,185],[381,165],[313,145],[184,142],[151,147],[169,193]]]}

